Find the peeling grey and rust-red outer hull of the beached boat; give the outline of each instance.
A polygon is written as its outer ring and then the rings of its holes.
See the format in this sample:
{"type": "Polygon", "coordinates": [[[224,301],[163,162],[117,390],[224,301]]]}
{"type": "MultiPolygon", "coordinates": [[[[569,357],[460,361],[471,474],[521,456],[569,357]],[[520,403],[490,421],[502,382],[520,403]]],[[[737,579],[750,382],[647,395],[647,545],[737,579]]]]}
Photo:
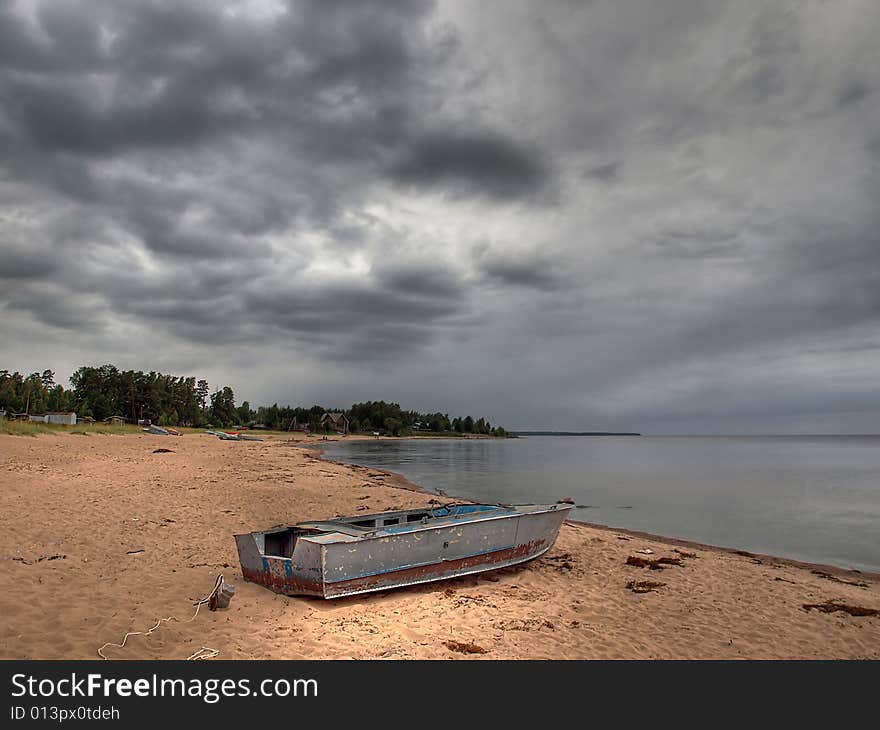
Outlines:
{"type": "Polygon", "coordinates": [[[326,544],[297,542],[292,558],[265,555],[237,535],[242,574],[287,595],[338,598],[525,563],[555,543],[568,505],[326,544]]]}

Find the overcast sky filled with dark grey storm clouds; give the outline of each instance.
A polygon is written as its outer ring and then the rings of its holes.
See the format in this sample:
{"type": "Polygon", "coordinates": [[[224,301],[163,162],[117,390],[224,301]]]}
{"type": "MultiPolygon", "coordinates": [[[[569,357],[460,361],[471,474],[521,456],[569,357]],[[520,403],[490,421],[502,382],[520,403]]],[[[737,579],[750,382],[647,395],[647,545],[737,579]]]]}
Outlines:
{"type": "Polygon", "coordinates": [[[876,0],[0,0],[0,366],[880,432],[876,0]]]}

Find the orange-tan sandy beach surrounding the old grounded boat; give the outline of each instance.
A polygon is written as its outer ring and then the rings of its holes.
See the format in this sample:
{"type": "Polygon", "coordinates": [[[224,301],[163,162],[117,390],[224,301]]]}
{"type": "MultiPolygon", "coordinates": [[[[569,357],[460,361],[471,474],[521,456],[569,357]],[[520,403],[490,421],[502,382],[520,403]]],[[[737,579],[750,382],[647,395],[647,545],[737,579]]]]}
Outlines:
{"type": "Polygon", "coordinates": [[[174,616],[104,653],[880,659],[880,616],[804,608],[880,609],[880,576],[576,523],[524,566],[384,593],[290,598],[242,580],[233,533],[431,498],[408,486],[286,436],[0,435],[0,658],[94,659],[105,642],[174,616]],[[682,564],[651,570],[627,565],[631,556],[682,564]],[[235,585],[230,607],[184,623],[218,574],[235,585]],[[633,581],[662,585],[636,593],[633,581]]]}

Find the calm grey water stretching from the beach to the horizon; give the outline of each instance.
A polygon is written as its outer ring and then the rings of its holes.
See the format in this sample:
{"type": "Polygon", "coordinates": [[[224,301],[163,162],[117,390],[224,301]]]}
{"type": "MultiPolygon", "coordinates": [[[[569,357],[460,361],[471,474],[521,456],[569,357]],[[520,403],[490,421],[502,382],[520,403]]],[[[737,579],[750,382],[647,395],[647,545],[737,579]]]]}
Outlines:
{"type": "Polygon", "coordinates": [[[571,497],[572,517],[880,571],[880,437],[336,441],[328,458],[487,502],[571,497]]]}

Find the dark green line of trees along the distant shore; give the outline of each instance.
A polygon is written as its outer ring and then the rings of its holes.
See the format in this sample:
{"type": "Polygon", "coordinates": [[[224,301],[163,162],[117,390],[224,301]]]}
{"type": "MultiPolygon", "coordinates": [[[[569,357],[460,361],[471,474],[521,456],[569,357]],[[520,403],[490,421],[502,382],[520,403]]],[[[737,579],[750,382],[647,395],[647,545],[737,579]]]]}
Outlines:
{"type": "Polygon", "coordinates": [[[403,436],[419,431],[507,436],[488,419],[471,416],[450,418],[447,413],[404,410],[399,403],[367,401],[350,408],[326,409],[271,406],[251,408],[248,401],[236,406],[229,386],[210,390],[206,380],[167,375],[155,371],[120,370],[115,365],[83,366],[70,376],[70,388],[55,382],[55,373],[44,370],[23,375],[0,370],[0,410],[7,413],[41,414],[73,411],[78,418],[103,421],[122,416],[130,422],[149,420],[162,426],[262,426],[289,431],[325,430],[325,412],[341,412],[353,433],[379,431],[403,436]]]}

